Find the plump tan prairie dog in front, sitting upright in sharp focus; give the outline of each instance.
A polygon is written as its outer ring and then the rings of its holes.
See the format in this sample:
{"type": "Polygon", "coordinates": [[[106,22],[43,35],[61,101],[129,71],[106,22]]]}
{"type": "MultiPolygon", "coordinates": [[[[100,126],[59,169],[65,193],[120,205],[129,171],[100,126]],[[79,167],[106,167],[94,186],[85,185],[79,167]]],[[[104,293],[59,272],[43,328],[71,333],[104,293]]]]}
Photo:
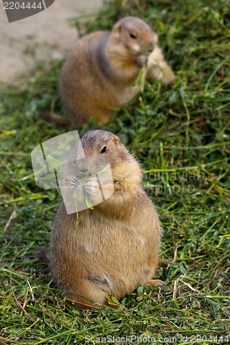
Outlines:
{"type": "MultiPolygon", "coordinates": [[[[119,138],[106,130],[90,130],[81,142],[86,159],[95,155],[108,159],[114,193],[93,210],[82,210],[77,229],[76,213],[67,215],[62,202],[46,259],[55,282],[68,291],[67,297],[80,308],[90,308],[90,301],[107,304],[106,294],[120,299],[141,284],[163,284],[152,280],[161,226],[142,188],[140,166],[119,138]]],[[[79,177],[86,175],[82,166],[77,169],[79,177]]],[[[71,183],[71,178],[66,181],[71,183]]],[[[88,199],[95,200],[99,188],[87,180],[84,186],[88,199]]]]}

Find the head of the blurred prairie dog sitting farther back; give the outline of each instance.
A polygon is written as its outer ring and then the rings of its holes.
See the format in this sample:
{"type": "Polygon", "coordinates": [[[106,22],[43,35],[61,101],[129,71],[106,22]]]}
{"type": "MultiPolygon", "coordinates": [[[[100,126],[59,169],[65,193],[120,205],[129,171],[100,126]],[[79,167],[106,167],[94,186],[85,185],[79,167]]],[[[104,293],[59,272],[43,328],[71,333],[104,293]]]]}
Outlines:
{"type": "MultiPolygon", "coordinates": [[[[138,17],[124,17],[115,23],[108,43],[108,52],[146,63],[146,57],[157,43],[157,34],[138,17]]],[[[142,64],[142,63],[141,63],[142,64]]]]}

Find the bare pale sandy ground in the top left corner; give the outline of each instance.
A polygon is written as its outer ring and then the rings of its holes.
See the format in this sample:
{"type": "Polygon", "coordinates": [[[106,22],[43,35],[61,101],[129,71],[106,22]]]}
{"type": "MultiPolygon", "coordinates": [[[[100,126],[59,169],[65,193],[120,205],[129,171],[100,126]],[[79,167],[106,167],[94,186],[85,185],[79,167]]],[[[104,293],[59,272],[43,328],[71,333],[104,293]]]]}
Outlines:
{"type": "Polygon", "coordinates": [[[46,10],[32,17],[8,23],[0,1],[0,81],[17,79],[35,60],[61,59],[77,40],[76,28],[68,19],[95,13],[102,0],[55,0],[46,10]]]}

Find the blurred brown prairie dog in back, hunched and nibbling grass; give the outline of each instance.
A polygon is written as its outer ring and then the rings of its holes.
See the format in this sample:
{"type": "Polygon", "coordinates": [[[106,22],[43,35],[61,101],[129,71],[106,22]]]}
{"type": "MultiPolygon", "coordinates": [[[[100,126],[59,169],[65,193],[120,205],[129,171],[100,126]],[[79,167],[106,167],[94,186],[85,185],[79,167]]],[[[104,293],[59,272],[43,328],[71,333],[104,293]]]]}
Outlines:
{"type": "Polygon", "coordinates": [[[59,92],[68,119],[55,114],[48,121],[81,128],[91,116],[108,121],[113,108],[140,92],[137,76],[173,83],[175,75],[157,46],[157,34],[138,17],[124,17],[111,31],[87,34],[77,41],[61,69],[59,92]]]}

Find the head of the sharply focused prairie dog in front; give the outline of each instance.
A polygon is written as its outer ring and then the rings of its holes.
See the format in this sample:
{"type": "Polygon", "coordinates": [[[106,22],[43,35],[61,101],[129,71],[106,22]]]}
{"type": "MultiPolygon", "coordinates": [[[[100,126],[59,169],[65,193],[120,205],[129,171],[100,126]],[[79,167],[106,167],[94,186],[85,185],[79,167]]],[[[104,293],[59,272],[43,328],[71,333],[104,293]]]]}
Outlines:
{"type": "MultiPolygon", "coordinates": [[[[106,130],[89,130],[81,139],[85,159],[79,159],[79,177],[96,173],[108,163],[113,181],[126,185],[140,184],[142,172],[137,160],[126,150],[120,139],[106,130]]],[[[71,152],[71,160],[76,158],[77,150],[71,152]]]]}

